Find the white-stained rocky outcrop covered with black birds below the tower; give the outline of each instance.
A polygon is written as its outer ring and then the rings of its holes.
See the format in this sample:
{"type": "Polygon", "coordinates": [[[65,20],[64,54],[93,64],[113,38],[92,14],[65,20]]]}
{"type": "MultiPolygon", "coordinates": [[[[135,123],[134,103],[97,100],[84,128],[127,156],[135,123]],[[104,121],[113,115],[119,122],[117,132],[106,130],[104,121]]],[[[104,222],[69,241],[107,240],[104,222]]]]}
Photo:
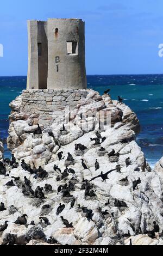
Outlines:
{"type": "MultiPolygon", "coordinates": [[[[12,110],[15,105],[17,111],[12,114],[21,116],[22,112],[18,110],[21,103],[19,105],[12,102],[12,110]]],[[[24,114],[28,117],[29,113],[24,114]]],[[[78,104],[68,114],[70,119],[65,122],[65,129],[62,123],[54,122],[44,129],[42,127],[42,135],[36,136],[33,132],[40,120],[38,116],[39,113],[35,113],[33,118],[30,115],[26,120],[14,120],[12,117],[10,123],[8,144],[13,149],[12,153],[19,162],[19,167],[7,167],[9,176],[2,176],[0,180],[0,202],[7,208],[0,211],[0,224],[9,221],[8,228],[2,234],[3,242],[6,234],[15,235],[15,229],[18,229],[16,239],[28,245],[44,245],[50,236],[60,245],[115,245],[127,243],[123,234],[128,233],[128,230],[131,236],[139,233],[140,229],[142,233],[151,230],[153,221],[159,224],[160,229],[163,228],[162,181],[159,173],[148,166],[135,142],[136,132],[140,130],[139,120],[126,105],[112,101],[110,96],[100,96],[93,90],[87,90],[85,99],[78,100],[78,104]],[[99,119],[100,115],[102,119],[99,119]],[[91,138],[96,137],[99,128],[103,141],[100,139],[101,144],[96,144],[91,138]],[[53,137],[49,136],[49,131],[53,132],[53,137]],[[74,150],[76,144],[85,145],[86,149],[74,150]],[[101,147],[104,151],[101,151],[101,147]],[[116,155],[109,157],[108,153],[113,149],[116,155]],[[63,155],[59,161],[60,151],[63,155]],[[68,153],[71,153],[73,160],[67,160],[68,153]],[[83,168],[82,159],[87,169],[83,168]],[[96,159],[99,162],[98,170],[95,170],[96,159]],[[129,159],[129,164],[126,164],[126,159],[129,159]],[[32,168],[42,166],[48,176],[40,179],[23,170],[22,160],[32,168]],[[59,170],[53,168],[54,164],[59,166],[62,173],[66,167],[73,169],[75,173],[70,172],[65,179],[61,179],[59,170]],[[120,169],[117,168],[118,165],[120,169]],[[101,172],[106,173],[109,170],[112,172],[108,174],[109,179],[106,182],[100,176],[92,180],[101,172]],[[11,180],[11,176],[19,176],[20,180],[15,181],[16,186],[7,187],[5,184],[11,180]],[[53,190],[44,190],[45,198],[42,199],[34,198],[30,193],[24,195],[24,176],[30,180],[34,191],[37,186],[43,188],[45,184],[50,184],[53,190]],[[92,180],[90,192],[92,190],[94,193],[85,194],[85,190],[81,190],[83,180],[92,180]],[[133,187],[136,180],[141,182],[133,187]],[[58,193],[58,187],[70,182],[74,189],[68,197],[63,197],[62,192],[58,193]],[[71,208],[73,198],[75,202],[71,208]],[[65,209],[57,215],[60,203],[65,204],[65,209]],[[49,209],[42,208],[45,204],[49,205],[49,209]],[[17,209],[14,214],[9,211],[11,205],[17,209]],[[92,210],[90,218],[82,207],[92,210]],[[25,226],[12,224],[23,214],[27,214],[28,224],[31,221],[36,223],[36,235],[32,235],[31,226],[27,229],[25,226]],[[49,223],[41,223],[40,216],[47,217],[49,223]],[[65,228],[61,216],[72,223],[72,227],[65,228]],[[42,229],[39,229],[40,226],[42,229]],[[38,237],[40,233],[42,235],[38,237]],[[31,241],[27,241],[29,237],[31,241]]]]}

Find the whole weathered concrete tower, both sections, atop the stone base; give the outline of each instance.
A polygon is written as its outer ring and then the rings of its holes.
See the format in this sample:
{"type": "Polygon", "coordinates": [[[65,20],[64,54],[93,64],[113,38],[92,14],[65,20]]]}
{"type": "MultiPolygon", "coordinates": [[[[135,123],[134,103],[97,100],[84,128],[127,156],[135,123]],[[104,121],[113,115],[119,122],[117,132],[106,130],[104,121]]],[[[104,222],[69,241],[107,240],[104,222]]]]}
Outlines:
{"type": "Polygon", "coordinates": [[[27,89],[85,89],[85,23],[28,21],[27,89]]]}

